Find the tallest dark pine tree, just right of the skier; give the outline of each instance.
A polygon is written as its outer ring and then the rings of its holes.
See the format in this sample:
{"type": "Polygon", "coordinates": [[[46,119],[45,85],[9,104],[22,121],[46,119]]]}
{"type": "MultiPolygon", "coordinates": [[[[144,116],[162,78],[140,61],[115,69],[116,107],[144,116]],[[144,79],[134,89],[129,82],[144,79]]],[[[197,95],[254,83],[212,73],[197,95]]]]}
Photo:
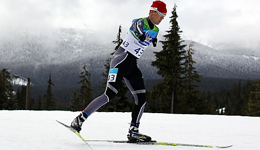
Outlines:
{"type": "MultiPolygon", "coordinates": [[[[161,75],[163,78],[163,85],[165,89],[154,89],[154,90],[167,90],[164,93],[170,94],[170,99],[163,99],[163,101],[169,102],[170,113],[181,113],[179,109],[181,106],[181,96],[182,91],[182,80],[184,75],[184,60],[186,59],[185,44],[182,44],[183,40],[180,37],[180,27],[177,22],[177,6],[174,6],[170,17],[170,30],[166,31],[168,34],[163,35],[165,41],[160,41],[162,43],[162,51],[154,52],[156,60],[152,62],[152,66],[157,67],[159,70],[157,74],[161,75]],[[175,111],[174,111],[175,110],[175,111]]],[[[162,92],[162,91],[158,91],[162,92]]]]}

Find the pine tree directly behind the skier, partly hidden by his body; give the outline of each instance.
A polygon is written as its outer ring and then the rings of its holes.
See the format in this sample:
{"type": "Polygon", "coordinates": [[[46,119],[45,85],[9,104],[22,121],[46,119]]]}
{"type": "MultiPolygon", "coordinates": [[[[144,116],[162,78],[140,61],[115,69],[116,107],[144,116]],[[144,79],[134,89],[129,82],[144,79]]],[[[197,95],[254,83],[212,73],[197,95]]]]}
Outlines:
{"type": "MultiPolygon", "coordinates": [[[[123,42],[122,38],[120,37],[121,32],[122,31],[121,31],[121,25],[120,25],[118,33],[117,33],[117,38],[116,38],[116,40],[112,41],[112,43],[117,44],[114,48],[115,51],[119,48],[119,46],[123,42]]],[[[110,55],[113,55],[115,53],[115,51],[113,53],[111,53],[110,55]]],[[[110,59],[106,60],[106,64],[104,66],[105,66],[106,72],[102,73],[104,80],[103,80],[103,82],[100,82],[103,86],[103,89],[106,87],[106,84],[107,84],[107,77],[108,77],[108,72],[109,72],[109,69],[110,69],[110,59]]],[[[125,96],[127,90],[128,90],[128,88],[126,87],[124,82],[121,81],[121,87],[118,90],[116,96],[112,99],[111,102],[106,104],[104,107],[100,108],[99,111],[109,111],[109,112],[114,112],[114,111],[116,111],[116,112],[128,112],[128,111],[131,111],[131,108],[129,107],[130,103],[127,101],[127,97],[125,96]]]]}

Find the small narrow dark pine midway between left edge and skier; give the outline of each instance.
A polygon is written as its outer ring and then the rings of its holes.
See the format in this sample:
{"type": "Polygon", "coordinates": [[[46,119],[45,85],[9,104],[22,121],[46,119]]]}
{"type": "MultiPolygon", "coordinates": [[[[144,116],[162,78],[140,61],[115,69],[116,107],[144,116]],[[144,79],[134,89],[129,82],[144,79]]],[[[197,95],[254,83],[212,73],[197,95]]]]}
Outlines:
{"type": "Polygon", "coordinates": [[[47,91],[44,94],[44,109],[45,110],[54,110],[55,109],[55,96],[52,93],[52,86],[54,83],[52,82],[51,75],[49,76],[47,91]]]}

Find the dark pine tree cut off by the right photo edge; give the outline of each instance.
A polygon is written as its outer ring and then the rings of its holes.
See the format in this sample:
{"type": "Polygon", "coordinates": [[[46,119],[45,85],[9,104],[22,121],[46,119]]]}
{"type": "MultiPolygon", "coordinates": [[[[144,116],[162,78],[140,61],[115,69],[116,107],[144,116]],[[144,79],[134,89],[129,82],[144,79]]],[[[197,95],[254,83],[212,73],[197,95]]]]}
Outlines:
{"type": "Polygon", "coordinates": [[[255,80],[246,105],[245,114],[247,116],[260,117],[260,81],[255,80]]]}

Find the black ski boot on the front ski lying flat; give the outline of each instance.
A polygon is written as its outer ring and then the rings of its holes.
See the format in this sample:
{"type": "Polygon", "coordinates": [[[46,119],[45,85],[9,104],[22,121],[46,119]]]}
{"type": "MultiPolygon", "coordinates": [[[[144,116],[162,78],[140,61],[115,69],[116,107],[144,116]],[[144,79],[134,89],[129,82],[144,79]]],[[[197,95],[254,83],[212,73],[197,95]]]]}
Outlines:
{"type": "Polygon", "coordinates": [[[129,127],[129,133],[127,134],[127,138],[129,141],[135,142],[135,141],[143,141],[143,142],[149,142],[151,141],[151,137],[147,136],[145,134],[139,133],[139,125],[133,125],[129,127]]]}

